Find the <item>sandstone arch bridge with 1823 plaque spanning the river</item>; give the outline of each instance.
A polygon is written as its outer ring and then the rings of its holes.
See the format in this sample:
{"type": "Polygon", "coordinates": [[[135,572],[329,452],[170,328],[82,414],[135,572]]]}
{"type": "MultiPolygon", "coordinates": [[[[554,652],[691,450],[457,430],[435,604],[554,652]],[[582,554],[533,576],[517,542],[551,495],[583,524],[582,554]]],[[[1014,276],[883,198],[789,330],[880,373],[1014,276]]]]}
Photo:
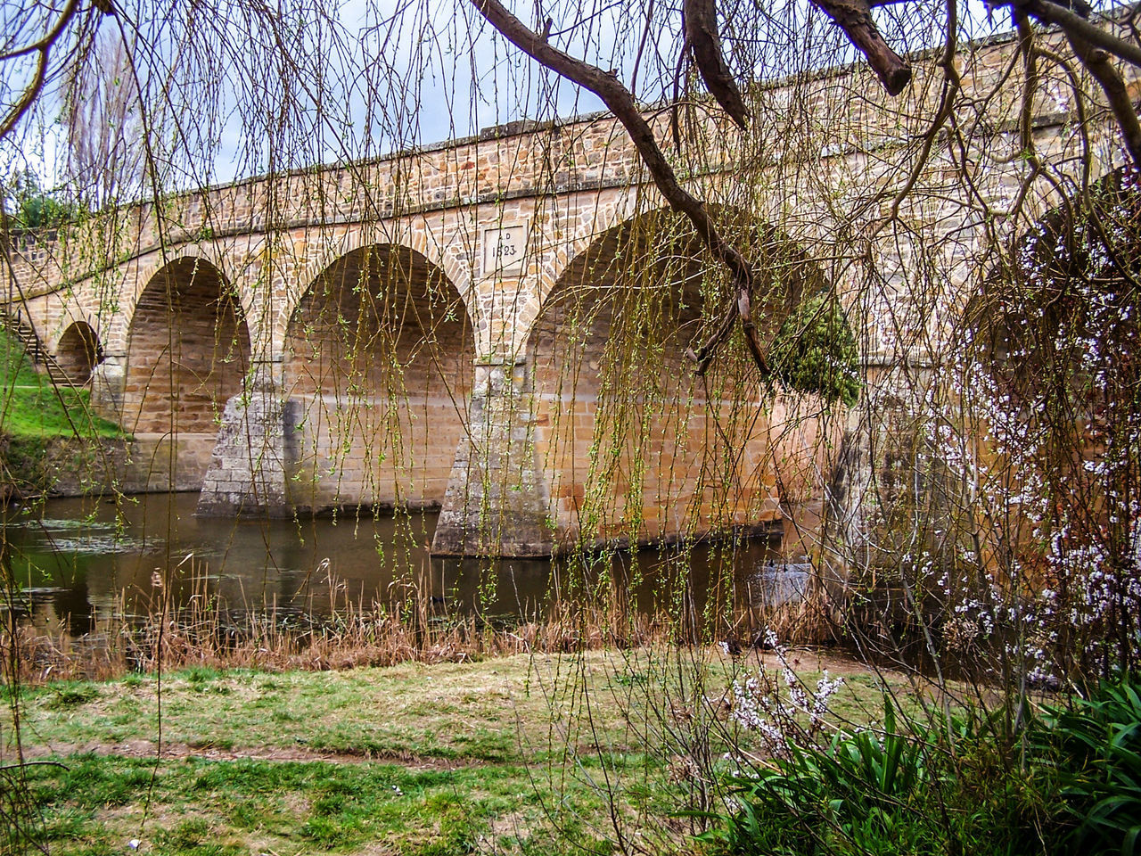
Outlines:
{"type": "MultiPolygon", "coordinates": [[[[1012,54],[974,46],[960,66],[1013,118],[1012,54]]],[[[859,66],[775,83],[747,144],[683,116],[701,137],[675,158],[687,185],[747,212],[738,234],[774,278],[847,307],[865,414],[876,377],[932,358],[891,331],[938,342],[979,277],[988,211],[960,192],[962,163],[937,142],[912,176],[938,91],[930,67],[893,103],[859,66]],[[924,245],[944,275],[917,297],[924,245]]],[[[1036,104],[1051,156],[1069,121],[1036,104]]],[[[1001,208],[1026,176],[1015,127],[973,134],[993,153],[974,187],[1001,208]]],[[[121,486],[201,490],[200,514],[439,508],[444,555],[779,526],[819,501],[845,417],[695,377],[715,266],[662,207],[609,115],[500,127],[24,235],[8,312],[131,435],[121,486]]]]}

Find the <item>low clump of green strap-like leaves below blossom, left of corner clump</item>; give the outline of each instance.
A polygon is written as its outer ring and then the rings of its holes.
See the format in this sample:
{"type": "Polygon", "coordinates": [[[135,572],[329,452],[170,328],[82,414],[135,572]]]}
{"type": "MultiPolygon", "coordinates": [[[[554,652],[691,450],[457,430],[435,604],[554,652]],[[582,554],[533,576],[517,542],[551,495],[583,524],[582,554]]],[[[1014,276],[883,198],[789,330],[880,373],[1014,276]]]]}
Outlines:
{"type": "Polygon", "coordinates": [[[1019,756],[994,718],[900,722],[885,701],[881,729],[790,745],[735,775],[701,838],[742,856],[1054,853],[1057,789],[1019,756]]]}

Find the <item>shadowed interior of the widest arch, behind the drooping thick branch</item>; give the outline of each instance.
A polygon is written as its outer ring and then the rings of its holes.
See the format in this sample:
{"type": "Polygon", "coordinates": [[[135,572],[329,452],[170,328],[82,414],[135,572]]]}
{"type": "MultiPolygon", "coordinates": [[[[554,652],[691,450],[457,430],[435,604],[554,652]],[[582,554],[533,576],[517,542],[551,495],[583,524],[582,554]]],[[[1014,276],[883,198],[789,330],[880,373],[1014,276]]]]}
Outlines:
{"type": "MultiPolygon", "coordinates": [[[[778,231],[718,215],[747,248],[753,317],[761,341],[774,341],[795,306],[828,293],[827,280],[778,231]]],[[[784,427],[774,430],[775,379],[760,375],[739,333],[705,377],[687,356],[731,299],[722,267],[669,210],[607,229],[564,268],[525,352],[535,453],[564,546],[780,531],[778,482],[807,477],[786,465],[820,467],[803,450],[790,455],[784,427]]]]}

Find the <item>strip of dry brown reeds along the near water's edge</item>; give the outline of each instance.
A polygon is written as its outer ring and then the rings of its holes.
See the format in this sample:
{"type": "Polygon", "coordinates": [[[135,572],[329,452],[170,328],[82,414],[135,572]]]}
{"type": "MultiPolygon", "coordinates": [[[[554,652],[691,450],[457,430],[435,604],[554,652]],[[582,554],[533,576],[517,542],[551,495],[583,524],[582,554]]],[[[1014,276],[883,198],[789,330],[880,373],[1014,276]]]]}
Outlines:
{"type": "Polygon", "coordinates": [[[711,639],[696,622],[648,617],[613,598],[596,605],[565,603],[543,617],[508,625],[448,614],[437,608],[430,595],[416,591],[405,592],[403,603],[349,607],[317,617],[272,606],[219,609],[205,578],[196,575],[195,580],[202,590],[188,599],[187,607],[171,611],[160,597],[152,612],[139,617],[123,603],[112,611],[114,617],[100,620],[80,638],[63,628],[3,628],[0,654],[6,672],[16,664],[16,673],[6,673],[6,680],[27,685],[105,680],[188,667],[325,671],[719,639],[745,648],[761,638],[761,629],[771,629],[782,641],[794,644],[828,641],[834,631],[820,587],[799,604],[739,609],[711,639]]]}

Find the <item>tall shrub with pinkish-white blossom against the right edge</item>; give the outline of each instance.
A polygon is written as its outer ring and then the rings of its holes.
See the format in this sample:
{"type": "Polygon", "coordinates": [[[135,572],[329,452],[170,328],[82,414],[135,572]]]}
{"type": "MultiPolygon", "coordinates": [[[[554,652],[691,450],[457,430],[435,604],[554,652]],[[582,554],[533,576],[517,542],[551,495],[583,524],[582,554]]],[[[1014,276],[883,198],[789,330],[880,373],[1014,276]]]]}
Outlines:
{"type": "Polygon", "coordinates": [[[925,402],[954,494],[931,578],[945,639],[985,643],[1008,676],[1047,687],[1138,664],[1136,181],[1115,173],[1039,223],[987,282],[925,402]]]}

